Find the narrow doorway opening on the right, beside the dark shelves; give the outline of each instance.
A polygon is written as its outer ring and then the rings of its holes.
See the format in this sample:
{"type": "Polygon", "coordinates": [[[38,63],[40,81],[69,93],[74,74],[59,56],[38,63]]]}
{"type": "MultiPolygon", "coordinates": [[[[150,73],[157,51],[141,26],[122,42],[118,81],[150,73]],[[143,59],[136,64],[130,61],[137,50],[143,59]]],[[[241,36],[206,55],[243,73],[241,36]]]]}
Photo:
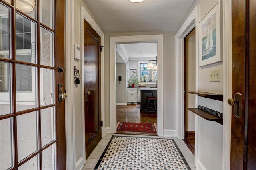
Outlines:
{"type": "Polygon", "coordinates": [[[188,110],[196,102],[189,91],[196,89],[196,29],[184,38],[184,142],[195,153],[195,114],[188,110]]]}

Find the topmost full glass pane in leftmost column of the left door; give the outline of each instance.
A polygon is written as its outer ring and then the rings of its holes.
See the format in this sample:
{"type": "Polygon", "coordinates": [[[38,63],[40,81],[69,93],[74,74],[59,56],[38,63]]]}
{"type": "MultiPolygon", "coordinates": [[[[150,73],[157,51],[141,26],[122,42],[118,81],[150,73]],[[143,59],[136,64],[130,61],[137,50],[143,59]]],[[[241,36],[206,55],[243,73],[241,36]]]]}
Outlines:
{"type": "Polygon", "coordinates": [[[0,4],[0,57],[10,58],[10,8],[0,4]]]}

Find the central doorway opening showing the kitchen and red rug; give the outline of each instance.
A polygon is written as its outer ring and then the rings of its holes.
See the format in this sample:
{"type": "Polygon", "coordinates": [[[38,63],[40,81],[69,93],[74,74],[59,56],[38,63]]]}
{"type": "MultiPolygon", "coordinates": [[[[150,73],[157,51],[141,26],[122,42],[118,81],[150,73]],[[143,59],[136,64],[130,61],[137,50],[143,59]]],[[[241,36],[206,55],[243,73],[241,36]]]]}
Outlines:
{"type": "Polygon", "coordinates": [[[116,133],[157,135],[156,41],[116,44],[116,121],[116,133]]]}

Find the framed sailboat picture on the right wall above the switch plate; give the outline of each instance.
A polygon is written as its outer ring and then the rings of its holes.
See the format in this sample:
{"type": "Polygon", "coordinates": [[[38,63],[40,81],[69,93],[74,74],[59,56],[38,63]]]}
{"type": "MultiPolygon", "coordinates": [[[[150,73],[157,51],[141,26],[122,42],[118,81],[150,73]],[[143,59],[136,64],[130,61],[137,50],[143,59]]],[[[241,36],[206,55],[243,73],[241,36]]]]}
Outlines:
{"type": "Polygon", "coordinates": [[[220,53],[220,3],[198,23],[199,66],[222,61],[220,53]]]}

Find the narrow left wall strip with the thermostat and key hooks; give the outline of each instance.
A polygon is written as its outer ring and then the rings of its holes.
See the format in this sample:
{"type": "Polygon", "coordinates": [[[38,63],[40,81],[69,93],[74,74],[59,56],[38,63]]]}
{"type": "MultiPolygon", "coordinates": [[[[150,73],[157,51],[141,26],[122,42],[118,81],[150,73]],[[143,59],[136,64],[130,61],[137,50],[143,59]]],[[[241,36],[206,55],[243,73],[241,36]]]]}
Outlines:
{"type": "MultiPolygon", "coordinates": [[[[93,18],[93,20],[97,23],[97,25],[100,27],[99,23],[97,22],[97,20],[92,16],[92,14],[90,13],[90,11],[88,10],[88,8],[86,7],[86,5],[84,4],[84,2],[82,0],[74,0],[74,43],[80,45],[81,48],[83,48],[84,45],[81,44],[81,35],[80,35],[80,4],[82,4],[82,6],[86,9],[86,11],[90,14],[90,16],[93,18]]],[[[101,29],[102,30],[102,29],[101,29]]],[[[76,60],[74,59],[74,65],[76,66],[76,68],[78,68],[81,72],[81,60],[76,60]]],[[[81,77],[81,83],[84,82],[84,79],[81,77]]],[[[81,84],[76,85],[74,82],[74,95],[75,95],[75,148],[76,148],[76,162],[83,157],[83,152],[85,150],[85,146],[83,145],[83,125],[82,125],[82,97],[84,97],[84,95],[82,94],[82,86],[81,84]]]]}

